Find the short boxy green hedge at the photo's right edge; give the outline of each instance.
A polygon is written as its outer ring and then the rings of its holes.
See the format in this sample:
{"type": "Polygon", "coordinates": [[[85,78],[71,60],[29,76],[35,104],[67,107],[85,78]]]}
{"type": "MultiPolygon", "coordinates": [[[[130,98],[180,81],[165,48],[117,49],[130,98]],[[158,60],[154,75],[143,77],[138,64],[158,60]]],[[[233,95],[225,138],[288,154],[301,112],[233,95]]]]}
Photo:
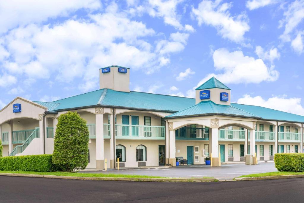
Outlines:
{"type": "Polygon", "coordinates": [[[275,167],[278,171],[304,172],[304,154],[275,154],[275,167]]]}

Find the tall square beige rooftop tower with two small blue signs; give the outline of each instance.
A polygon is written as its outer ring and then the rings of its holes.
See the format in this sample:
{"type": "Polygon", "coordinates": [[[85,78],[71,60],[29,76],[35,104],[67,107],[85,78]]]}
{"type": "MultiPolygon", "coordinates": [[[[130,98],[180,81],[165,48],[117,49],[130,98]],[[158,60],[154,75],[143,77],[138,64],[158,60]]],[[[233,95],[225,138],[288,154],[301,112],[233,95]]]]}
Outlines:
{"type": "Polygon", "coordinates": [[[118,65],[100,68],[99,88],[130,92],[130,68],[118,65]]]}

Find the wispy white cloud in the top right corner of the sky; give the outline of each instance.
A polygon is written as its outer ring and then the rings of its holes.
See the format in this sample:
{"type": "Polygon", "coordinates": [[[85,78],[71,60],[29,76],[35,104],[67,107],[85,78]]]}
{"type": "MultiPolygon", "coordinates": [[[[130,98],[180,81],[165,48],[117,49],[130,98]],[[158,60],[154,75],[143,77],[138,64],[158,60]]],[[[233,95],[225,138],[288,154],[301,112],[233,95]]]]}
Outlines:
{"type": "Polygon", "coordinates": [[[287,11],[284,12],[285,19],[280,20],[279,27],[285,25],[284,33],[280,38],[284,42],[291,41],[290,34],[299,25],[299,23],[304,19],[304,0],[295,0],[288,5],[287,11]]]}

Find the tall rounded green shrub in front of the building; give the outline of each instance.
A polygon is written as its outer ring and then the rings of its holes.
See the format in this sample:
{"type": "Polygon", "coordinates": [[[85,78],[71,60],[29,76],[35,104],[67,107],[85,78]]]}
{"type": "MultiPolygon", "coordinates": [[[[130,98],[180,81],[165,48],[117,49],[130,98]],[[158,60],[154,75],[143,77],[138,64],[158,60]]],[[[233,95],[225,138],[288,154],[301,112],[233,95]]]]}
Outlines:
{"type": "Polygon", "coordinates": [[[86,121],[76,112],[61,114],[54,139],[54,165],[67,172],[85,169],[88,165],[88,143],[86,121]]]}

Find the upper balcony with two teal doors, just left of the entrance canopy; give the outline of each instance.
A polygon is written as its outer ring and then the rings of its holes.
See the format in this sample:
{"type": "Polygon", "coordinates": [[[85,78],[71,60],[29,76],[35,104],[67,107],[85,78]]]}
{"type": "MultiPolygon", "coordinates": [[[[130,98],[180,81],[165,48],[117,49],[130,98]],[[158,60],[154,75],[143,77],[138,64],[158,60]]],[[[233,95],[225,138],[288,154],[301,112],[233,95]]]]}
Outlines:
{"type": "Polygon", "coordinates": [[[150,125],[115,125],[116,139],[165,139],[164,126],[150,125]]]}

